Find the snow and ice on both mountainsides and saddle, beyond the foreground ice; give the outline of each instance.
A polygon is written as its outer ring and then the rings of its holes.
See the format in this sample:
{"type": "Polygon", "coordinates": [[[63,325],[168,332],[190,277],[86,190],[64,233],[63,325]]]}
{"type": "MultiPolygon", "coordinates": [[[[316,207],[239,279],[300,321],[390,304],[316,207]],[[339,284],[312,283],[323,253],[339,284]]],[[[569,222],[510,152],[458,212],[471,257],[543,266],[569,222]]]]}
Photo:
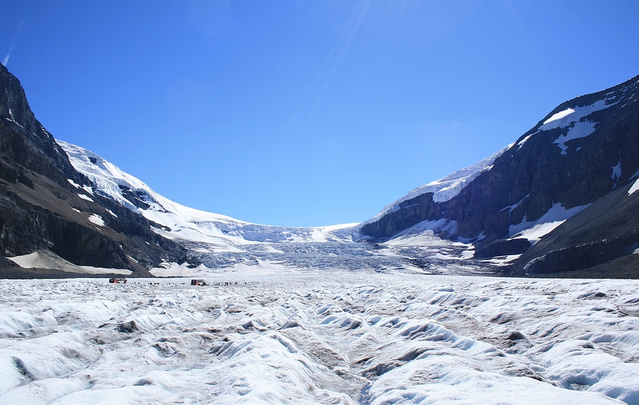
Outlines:
{"type": "MultiPolygon", "coordinates": [[[[598,108],[603,108],[597,105],[598,108]]],[[[591,111],[593,108],[586,108],[591,111]]],[[[586,112],[580,110],[580,114],[586,112]]],[[[546,125],[560,125],[567,117],[549,121],[546,125]]],[[[437,181],[414,189],[408,195],[361,224],[339,224],[314,228],[251,224],[226,215],[190,208],[159,195],[137,177],[129,175],[95,152],[57,140],[68,154],[71,164],[95,184],[94,188],[80,188],[88,195],[96,193],[120,202],[140,213],[158,228],[158,233],[178,241],[189,251],[185,264],[160,264],[150,270],[158,277],[203,277],[218,273],[238,275],[286,274],[306,270],[374,270],[376,272],[409,271],[417,274],[498,275],[502,266],[517,256],[476,259],[474,247],[468,240],[450,241],[437,237],[446,230],[456,233],[456,221],[425,221],[394,235],[384,243],[363,241],[361,226],[396,210],[402,201],[426,192],[433,199],[446,201],[457,195],[470,181],[490,170],[493,162],[508,145],[477,164],[453,172],[437,181]],[[192,264],[191,264],[192,263],[192,264]]],[[[520,142],[521,144],[521,142],[520,142]]],[[[71,182],[73,184],[73,182],[71,182]]],[[[90,198],[84,193],[83,198],[90,198]]],[[[517,204],[515,204],[516,206],[517,204]]],[[[556,204],[555,204],[556,205],[556,204]]],[[[515,206],[506,207],[512,210],[515,206]]],[[[504,209],[506,209],[504,208],[504,209]]],[[[508,237],[524,236],[535,242],[551,232],[564,220],[585,207],[563,210],[553,206],[537,221],[522,221],[511,226],[508,237]]],[[[91,217],[94,224],[101,218],[91,217]]],[[[479,235],[481,239],[481,235],[479,235]]],[[[117,269],[112,273],[123,270],[117,269]]]]}

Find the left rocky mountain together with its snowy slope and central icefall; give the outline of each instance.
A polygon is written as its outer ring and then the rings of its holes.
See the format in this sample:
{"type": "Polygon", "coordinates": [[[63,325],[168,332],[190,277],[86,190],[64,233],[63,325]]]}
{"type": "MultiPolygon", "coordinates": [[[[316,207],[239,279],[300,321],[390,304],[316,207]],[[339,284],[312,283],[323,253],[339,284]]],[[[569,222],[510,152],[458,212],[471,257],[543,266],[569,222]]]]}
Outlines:
{"type": "Polygon", "coordinates": [[[2,277],[489,271],[460,259],[466,245],[438,237],[369,244],[353,241],[356,224],[268,226],[182,206],[94,152],[53,139],[19,81],[0,72],[0,252],[10,258],[0,257],[2,277]]]}

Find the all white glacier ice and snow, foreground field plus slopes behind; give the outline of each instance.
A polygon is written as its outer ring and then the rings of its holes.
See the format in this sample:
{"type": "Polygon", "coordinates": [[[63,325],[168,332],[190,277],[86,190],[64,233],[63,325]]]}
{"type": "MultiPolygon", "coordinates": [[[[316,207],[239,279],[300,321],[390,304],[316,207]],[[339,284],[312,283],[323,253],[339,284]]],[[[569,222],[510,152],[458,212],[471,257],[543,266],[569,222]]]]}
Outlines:
{"type": "MultiPolygon", "coordinates": [[[[639,404],[637,280],[486,277],[513,257],[473,259],[437,237],[445,219],[385,243],[354,241],[359,224],[251,224],[59,143],[95,184],[70,182],[79,195],[126,201],[194,264],[126,284],[0,280],[0,405],[639,404]]],[[[454,193],[491,159],[421,191],[454,193]]],[[[509,236],[536,241],[583,208],[555,204],[509,236]]]]}

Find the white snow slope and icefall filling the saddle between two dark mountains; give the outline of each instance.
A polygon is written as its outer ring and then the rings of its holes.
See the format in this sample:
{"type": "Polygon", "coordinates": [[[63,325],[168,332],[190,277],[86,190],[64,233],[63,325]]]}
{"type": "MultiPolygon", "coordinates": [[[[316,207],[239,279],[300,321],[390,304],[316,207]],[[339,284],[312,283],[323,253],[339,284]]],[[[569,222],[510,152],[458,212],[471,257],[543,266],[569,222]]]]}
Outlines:
{"type": "MultiPolygon", "coordinates": [[[[156,276],[367,269],[428,274],[494,273],[492,266],[468,261],[472,256],[468,254],[468,245],[442,240],[434,234],[433,227],[415,228],[414,235],[406,235],[392,244],[368,244],[353,241],[358,224],[316,228],[251,224],[182,206],[90,150],[58,142],[76,170],[95,184],[95,188],[83,188],[84,191],[109,197],[141,213],[158,224],[154,228],[156,233],[187,248],[193,265],[164,263],[151,270],[156,276]]],[[[486,163],[478,165],[477,168],[481,166],[478,170],[485,168],[486,163]]],[[[457,180],[461,184],[464,177],[473,176],[473,170],[459,173],[457,180]]],[[[455,187],[452,176],[446,181],[455,187]]]]}

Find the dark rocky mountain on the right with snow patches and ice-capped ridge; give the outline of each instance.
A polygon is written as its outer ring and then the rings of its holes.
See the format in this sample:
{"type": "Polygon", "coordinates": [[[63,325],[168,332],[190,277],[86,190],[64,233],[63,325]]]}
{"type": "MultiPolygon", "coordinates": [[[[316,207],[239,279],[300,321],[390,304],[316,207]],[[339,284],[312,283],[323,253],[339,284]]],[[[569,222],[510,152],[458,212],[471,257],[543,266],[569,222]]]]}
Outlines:
{"type": "Polygon", "coordinates": [[[509,256],[511,274],[639,275],[638,92],[633,77],[560,104],[514,144],[386,207],[356,239],[419,224],[474,244],[475,258],[509,256]]]}

